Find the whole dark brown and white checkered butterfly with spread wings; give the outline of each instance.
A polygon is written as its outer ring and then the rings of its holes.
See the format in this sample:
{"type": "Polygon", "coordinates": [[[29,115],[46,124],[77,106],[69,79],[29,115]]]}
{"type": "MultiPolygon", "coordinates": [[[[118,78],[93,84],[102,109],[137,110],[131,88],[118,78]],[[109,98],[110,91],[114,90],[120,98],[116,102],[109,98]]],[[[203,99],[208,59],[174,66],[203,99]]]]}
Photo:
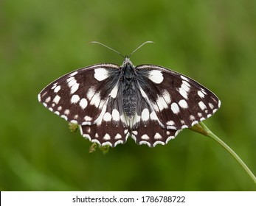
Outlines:
{"type": "Polygon", "coordinates": [[[190,77],[159,65],[135,66],[131,54],[122,56],[122,65],[90,65],[63,75],[41,90],[38,101],[101,146],[128,137],[164,145],[221,107],[214,93],[190,77]]]}

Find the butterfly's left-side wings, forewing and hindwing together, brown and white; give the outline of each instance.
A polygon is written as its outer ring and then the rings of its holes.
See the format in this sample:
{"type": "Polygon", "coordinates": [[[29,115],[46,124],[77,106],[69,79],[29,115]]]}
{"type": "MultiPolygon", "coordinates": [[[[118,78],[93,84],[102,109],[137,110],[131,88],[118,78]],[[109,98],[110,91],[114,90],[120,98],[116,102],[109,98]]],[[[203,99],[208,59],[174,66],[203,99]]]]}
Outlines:
{"type": "Polygon", "coordinates": [[[79,124],[83,137],[114,146],[128,138],[120,117],[122,104],[116,99],[119,77],[119,65],[91,65],[50,83],[38,100],[66,121],[79,124]]]}

